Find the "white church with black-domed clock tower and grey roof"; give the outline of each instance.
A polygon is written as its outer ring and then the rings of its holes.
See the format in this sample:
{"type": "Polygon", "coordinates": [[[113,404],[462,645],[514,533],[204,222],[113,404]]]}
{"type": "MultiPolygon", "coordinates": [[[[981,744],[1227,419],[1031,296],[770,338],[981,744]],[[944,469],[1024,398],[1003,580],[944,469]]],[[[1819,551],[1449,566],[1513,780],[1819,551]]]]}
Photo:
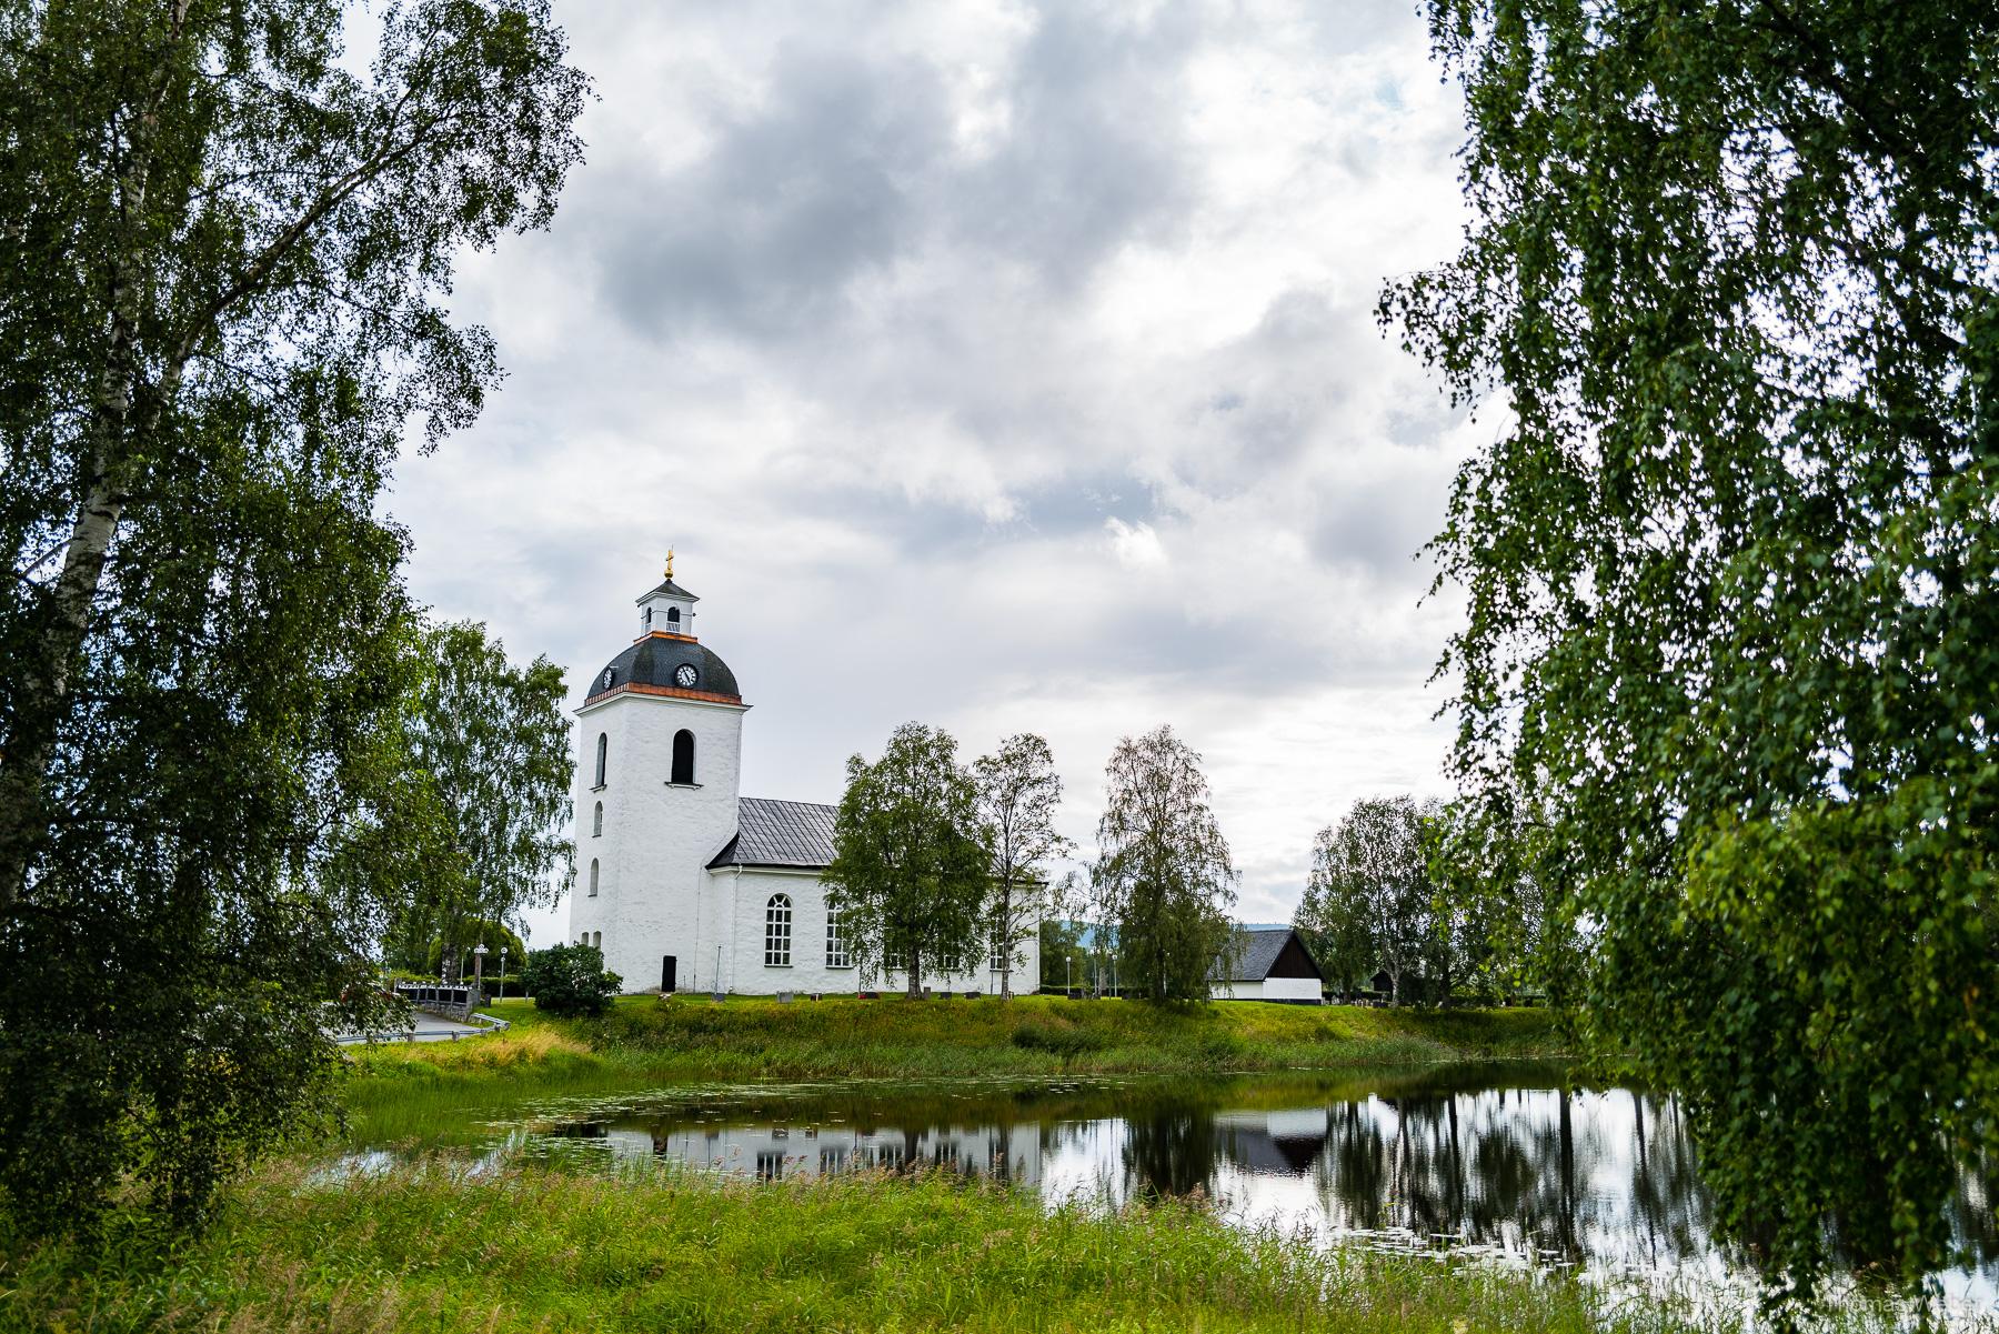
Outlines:
{"type": "MultiPolygon", "coordinates": [[[[836,808],[742,796],[736,674],[694,634],[692,592],[666,580],[638,600],[638,638],[576,710],[576,886],[570,940],[604,950],[628,992],[770,996],[900,992],[860,978],[826,912],[836,808]]],[[[984,954],[984,952],[982,952],[984,954]]],[[[938,992],[1000,986],[1000,958],[922,980],[938,992]]],[[[1039,984],[1039,942],[1013,990],[1039,984]]]]}

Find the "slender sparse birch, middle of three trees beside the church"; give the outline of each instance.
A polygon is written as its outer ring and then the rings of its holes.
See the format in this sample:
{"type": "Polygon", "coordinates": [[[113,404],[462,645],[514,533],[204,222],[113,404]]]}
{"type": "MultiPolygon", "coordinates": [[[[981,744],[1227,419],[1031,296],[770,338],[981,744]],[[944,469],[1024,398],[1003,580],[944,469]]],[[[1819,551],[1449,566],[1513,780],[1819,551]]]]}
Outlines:
{"type": "Polygon", "coordinates": [[[1055,912],[1049,862],[1075,844],[1055,832],[1061,776],[1045,740],[1031,732],[1009,736],[998,752],[974,762],[972,774],[994,850],[986,922],[1005,1000],[1013,996],[1013,968],[1027,960],[1023,946],[1039,938],[1041,920],[1055,912]]]}

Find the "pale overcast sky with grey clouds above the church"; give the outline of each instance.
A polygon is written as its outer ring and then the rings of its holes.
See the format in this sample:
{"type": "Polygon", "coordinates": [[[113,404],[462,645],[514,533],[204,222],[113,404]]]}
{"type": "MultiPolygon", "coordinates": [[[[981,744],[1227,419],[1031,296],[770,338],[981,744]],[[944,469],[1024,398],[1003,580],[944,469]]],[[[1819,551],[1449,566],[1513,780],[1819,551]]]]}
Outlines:
{"type": "Polygon", "coordinates": [[[1463,222],[1411,0],[558,14],[590,162],[462,274],[510,380],[400,470],[420,598],[580,698],[676,548],[750,796],[1035,730],[1087,852],[1171,724],[1245,920],[1355,798],[1443,790],[1415,552],[1479,426],[1373,318],[1463,222]]]}

